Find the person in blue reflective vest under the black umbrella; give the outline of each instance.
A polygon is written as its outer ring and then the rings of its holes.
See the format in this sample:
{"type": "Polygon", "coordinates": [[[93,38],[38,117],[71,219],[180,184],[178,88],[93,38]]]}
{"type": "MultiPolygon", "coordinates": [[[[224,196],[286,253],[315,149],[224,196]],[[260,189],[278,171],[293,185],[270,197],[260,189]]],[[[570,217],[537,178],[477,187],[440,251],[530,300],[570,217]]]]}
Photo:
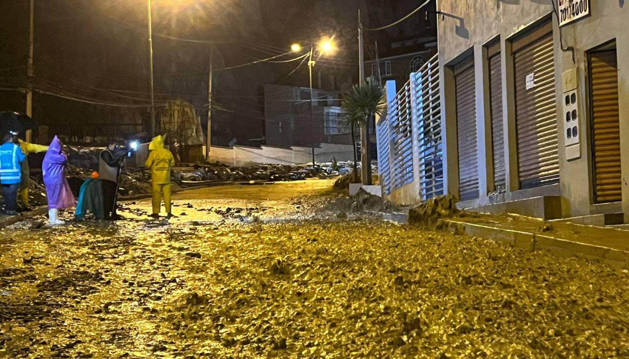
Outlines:
{"type": "Polygon", "coordinates": [[[4,194],[4,210],[9,216],[17,214],[18,189],[22,182],[22,162],[26,159],[19,145],[13,143],[13,133],[6,133],[0,146],[0,184],[4,194]]]}

